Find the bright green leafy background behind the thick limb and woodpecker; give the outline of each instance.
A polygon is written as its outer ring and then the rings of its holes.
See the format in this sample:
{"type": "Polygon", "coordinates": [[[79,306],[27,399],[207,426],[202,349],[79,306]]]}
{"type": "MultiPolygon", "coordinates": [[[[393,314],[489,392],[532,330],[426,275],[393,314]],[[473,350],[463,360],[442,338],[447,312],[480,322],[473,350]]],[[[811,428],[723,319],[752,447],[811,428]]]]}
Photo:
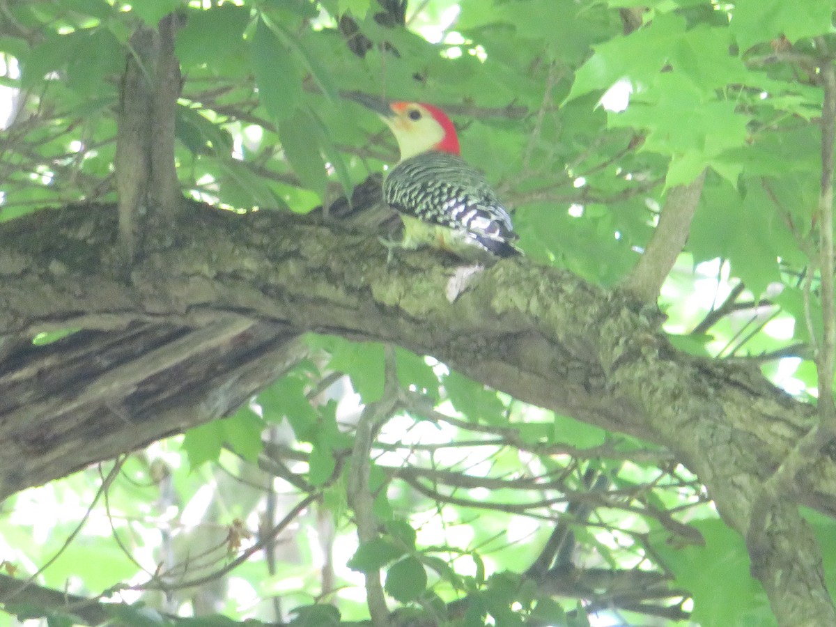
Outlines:
{"type": "MultiPolygon", "coordinates": [[[[833,3],[414,0],[406,28],[395,5],[0,3],[0,220],[115,200],[130,33],[179,11],[186,195],[328,206],[397,159],[340,92],[428,101],[513,208],[528,257],[609,288],[666,191],[707,169],[660,298],[665,329],[677,348],[815,395],[811,59],[836,49],[833,3]]],[[[9,499],[8,572],[121,601],[128,624],[347,624],[368,619],[364,574],[379,571],[399,624],[772,624],[742,539],[669,452],[403,349],[323,336],[308,348],[235,415],[9,499]],[[364,495],[351,478],[359,426],[375,436],[364,495]],[[361,542],[363,496],[377,523],[361,542]]],[[[829,579],[832,522],[811,521],[829,579]]],[[[5,623],[44,614],[3,600],[5,623]]]]}

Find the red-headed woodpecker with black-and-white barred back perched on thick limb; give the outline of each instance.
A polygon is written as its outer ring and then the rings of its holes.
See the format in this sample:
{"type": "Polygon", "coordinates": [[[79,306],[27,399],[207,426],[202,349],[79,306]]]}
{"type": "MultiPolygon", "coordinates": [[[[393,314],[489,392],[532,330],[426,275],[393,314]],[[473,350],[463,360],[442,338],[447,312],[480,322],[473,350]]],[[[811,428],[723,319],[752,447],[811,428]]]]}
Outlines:
{"type": "Polygon", "coordinates": [[[400,213],[404,237],[387,246],[431,246],[469,261],[520,254],[507,209],[482,172],[462,161],[456,129],[443,111],[359,92],[346,96],[380,115],[400,148],[383,199],[400,213]]]}

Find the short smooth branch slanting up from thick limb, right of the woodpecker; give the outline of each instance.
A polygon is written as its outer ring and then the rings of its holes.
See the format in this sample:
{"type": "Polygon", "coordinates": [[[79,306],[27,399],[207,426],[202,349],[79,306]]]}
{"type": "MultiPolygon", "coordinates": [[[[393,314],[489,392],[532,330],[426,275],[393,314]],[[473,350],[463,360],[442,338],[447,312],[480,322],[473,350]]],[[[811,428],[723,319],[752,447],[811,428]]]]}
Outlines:
{"type": "Polygon", "coordinates": [[[706,171],[690,185],[677,186],[668,192],[665,207],[659,217],[659,225],[650,238],[645,254],[624,281],[622,288],[642,303],[655,303],[662,283],[665,283],[676,257],[685,247],[691,230],[691,219],[702,194],[706,171]]]}

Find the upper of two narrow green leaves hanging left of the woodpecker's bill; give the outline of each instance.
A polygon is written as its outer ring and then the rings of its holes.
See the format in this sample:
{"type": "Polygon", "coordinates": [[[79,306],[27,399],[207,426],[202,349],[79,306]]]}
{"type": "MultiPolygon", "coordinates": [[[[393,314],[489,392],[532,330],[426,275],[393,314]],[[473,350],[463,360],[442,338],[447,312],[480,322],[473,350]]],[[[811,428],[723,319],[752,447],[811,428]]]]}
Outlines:
{"type": "Polygon", "coordinates": [[[278,40],[263,18],[256,23],[251,54],[258,98],[273,120],[287,120],[302,99],[302,81],[287,46],[278,40]]]}

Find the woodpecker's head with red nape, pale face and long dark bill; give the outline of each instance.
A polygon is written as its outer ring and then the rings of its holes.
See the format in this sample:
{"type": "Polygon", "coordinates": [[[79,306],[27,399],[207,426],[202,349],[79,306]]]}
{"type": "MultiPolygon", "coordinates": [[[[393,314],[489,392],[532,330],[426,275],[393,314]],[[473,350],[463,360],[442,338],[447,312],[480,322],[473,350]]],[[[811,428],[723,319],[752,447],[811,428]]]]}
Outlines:
{"type": "Polygon", "coordinates": [[[347,95],[380,115],[398,141],[401,161],[426,150],[460,153],[456,127],[438,107],[417,102],[389,102],[357,92],[347,95]]]}

